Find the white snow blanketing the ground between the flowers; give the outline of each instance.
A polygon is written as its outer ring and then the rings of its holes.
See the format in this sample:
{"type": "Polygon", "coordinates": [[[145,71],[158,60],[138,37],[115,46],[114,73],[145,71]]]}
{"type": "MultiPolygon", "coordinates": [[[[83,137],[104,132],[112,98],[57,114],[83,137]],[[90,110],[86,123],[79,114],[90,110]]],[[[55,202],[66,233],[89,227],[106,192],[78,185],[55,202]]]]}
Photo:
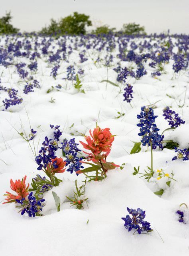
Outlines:
{"type": "MultiPolygon", "coordinates": [[[[136,38],[136,42],[137,40],[139,39],[136,38]]],[[[176,46],[174,51],[177,52],[176,46]]],[[[90,50],[88,52],[92,54],[90,50]]],[[[27,59],[23,58],[22,61],[27,62],[27,59]]],[[[181,75],[171,79],[173,70],[170,62],[166,64],[167,74],[155,79],[150,76],[152,68],[146,65],[147,72],[149,71],[146,76],[140,80],[132,78],[129,81],[134,87],[131,107],[123,101],[123,92],[119,93],[118,87],[101,82],[107,79],[106,67],[97,68],[90,58],[79,64],[77,50],[72,53],[69,64],[61,63],[59,75],[54,80],[49,76],[51,68],[47,66],[45,59],[39,59],[39,70],[34,76],[39,80],[41,89],[35,89],[35,92],[28,95],[23,94],[23,85],[17,83],[19,77],[14,66],[7,69],[0,66],[0,72],[3,71],[3,86],[13,86],[24,98],[23,104],[10,108],[11,112],[0,111],[0,201],[4,199],[3,194],[10,191],[11,178],[22,179],[27,175],[26,181],[30,183],[32,177],[40,172],[36,169],[33,152],[41,147],[45,136],[52,136],[49,124],[60,125],[63,130],[61,137],[75,137],[77,142],[84,140],[82,133],[89,134],[89,129],[95,128],[96,121],[101,128],[109,127],[116,136],[108,159],[120,165],[125,163],[125,167],[122,170],[116,168],[108,171],[107,178],[102,182],[90,182],[86,185],[85,196],[89,198],[89,207],[85,204],[83,210],[71,207],[65,196],[73,195],[75,179],[82,184],[84,176],[69,172],[59,174],[57,177],[63,178],[62,184],[45,194],[43,217],[21,216],[16,212],[14,204],[0,204],[1,255],[174,256],[179,253],[187,256],[188,224],[179,223],[175,212],[183,202],[189,206],[188,161],[171,161],[175,155],[174,150],[154,150],[154,170],[162,168],[166,173],[174,174],[176,181],[171,180],[169,187],[166,185],[167,177],[157,180],[154,176],[152,182],[148,183],[139,178],[139,175],[132,175],[134,166],[140,166],[142,172],[146,166],[150,166],[150,151],[146,147],[138,154],[129,154],[134,146],[133,141],[140,141],[136,115],[140,113],[141,106],[149,104],[156,105],[154,112],[158,115],[156,120],[160,132],[168,128],[168,123],[162,116],[163,108],[172,106],[179,113],[186,123],[174,131],[166,131],[164,135],[167,140],[172,139],[179,143],[180,148],[188,147],[187,74],[181,72],[181,75]],[[85,70],[81,76],[85,94],[73,89],[71,82],[62,80],[69,64],[85,70]],[[46,93],[52,85],[55,87],[58,84],[63,89],[46,93]],[[49,102],[51,97],[55,99],[55,103],[49,102]],[[179,108],[178,104],[184,106],[179,108]],[[125,115],[115,119],[117,112],[125,115]],[[30,142],[32,150],[16,131],[21,132],[24,127],[26,134],[29,134],[30,124],[37,130],[33,142],[30,142]],[[72,124],[74,125],[70,128],[72,124]],[[154,194],[160,189],[165,190],[161,197],[154,194]],[[61,198],[60,212],[56,210],[52,191],[61,198]],[[132,235],[132,231],[128,232],[121,219],[127,214],[126,207],[146,210],[146,220],[151,223],[154,231],[149,235],[132,235]]],[[[125,65],[124,62],[122,64],[125,65]]],[[[116,66],[115,62],[114,67],[116,66]]],[[[116,72],[112,68],[108,68],[108,80],[116,82],[116,72]]],[[[1,100],[5,97],[2,92],[1,100]]],[[[83,149],[81,144],[79,148],[83,149]]],[[[57,156],[61,156],[61,152],[57,156]]],[[[181,209],[185,211],[188,222],[187,209],[184,206],[181,209]]]]}

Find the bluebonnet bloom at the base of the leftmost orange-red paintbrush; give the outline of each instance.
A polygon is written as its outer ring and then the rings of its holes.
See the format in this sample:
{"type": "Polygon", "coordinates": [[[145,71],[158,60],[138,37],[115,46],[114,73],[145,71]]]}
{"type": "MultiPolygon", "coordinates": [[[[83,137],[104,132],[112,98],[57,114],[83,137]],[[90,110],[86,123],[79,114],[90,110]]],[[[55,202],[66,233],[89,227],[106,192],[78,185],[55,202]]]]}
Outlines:
{"type": "Polygon", "coordinates": [[[35,196],[33,196],[33,192],[31,192],[28,195],[27,201],[22,198],[22,200],[16,199],[16,202],[23,206],[23,209],[21,211],[22,215],[27,213],[29,217],[35,217],[35,215],[40,215],[40,212],[42,211],[42,208],[44,206],[43,202],[45,202],[45,199],[42,198],[37,200],[35,196]]]}

